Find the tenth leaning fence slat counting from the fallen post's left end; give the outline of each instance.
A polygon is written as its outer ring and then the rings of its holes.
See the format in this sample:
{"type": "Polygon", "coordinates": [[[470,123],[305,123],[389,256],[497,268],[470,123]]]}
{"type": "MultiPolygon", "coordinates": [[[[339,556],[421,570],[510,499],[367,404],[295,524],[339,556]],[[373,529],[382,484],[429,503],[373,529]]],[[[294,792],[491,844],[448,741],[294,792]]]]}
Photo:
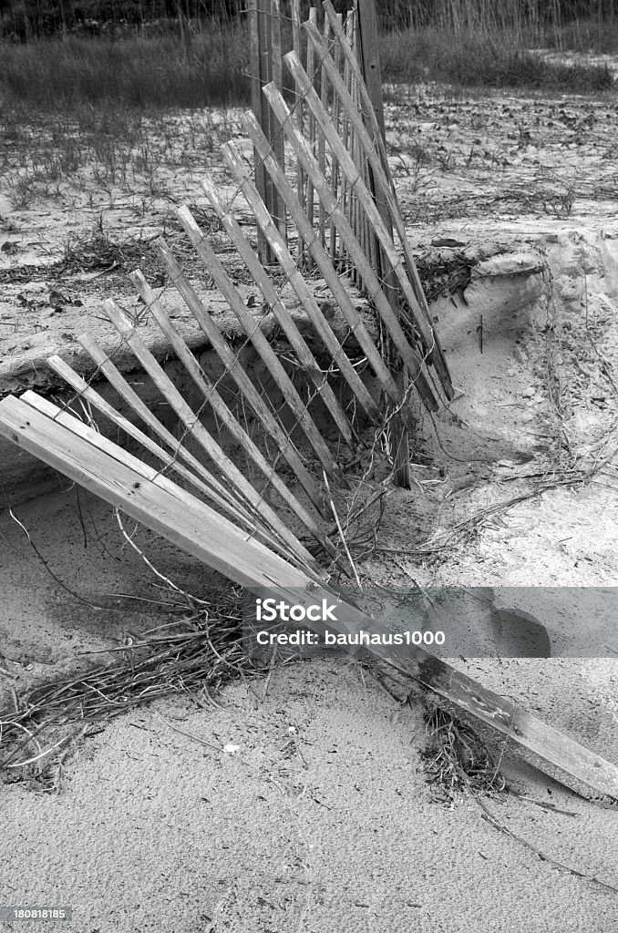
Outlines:
{"type": "MultiPolygon", "coordinates": [[[[288,104],[286,104],[281,94],[276,90],[276,88],[274,88],[272,84],[266,85],[264,88],[264,94],[267,97],[269,104],[271,104],[274,110],[278,112],[277,116],[279,118],[279,122],[284,127],[286,135],[288,136],[292,146],[294,146],[298,158],[302,160],[305,171],[311,178],[313,178],[316,192],[320,198],[324,199],[327,210],[329,211],[331,218],[335,222],[335,225],[337,226],[342,238],[345,241],[352,261],[356,266],[358,266],[358,269],[361,272],[362,278],[364,279],[365,284],[370,294],[372,295],[375,307],[382,320],[384,321],[393,343],[399,350],[401,359],[409,370],[420,397],[423,399],[430,411],[438,411],[439,404],[436,397],[433,395],[431,386],[429,385],[427,377],[421,368],[421,360],[403,333],[400,322],[390,307],[390,304],[388,303],[388,300],[386,299],[386,296],[382,290],[380,280],[373,271],[369,259],[363,253],[354,230],[351,229],[346,217],[344,216],[344,213],[341,211],[339,206],[332,201],[329,183],[324,178],[324,175],[319,173],[316,160],[309,151],[309,147],[307,146],[305,139],[301,136],[296,127],[293,125],[292,121],[289,119],[288,104]]],[[[336,146],[336,148],[339,149],[339,152],[341,152],[343,149],[341,140],[339,140],[338,146],[336,146]]],[[[345,157],[349,159],[347,153],[345,153],[345,157]]],[[[355,177],[358,178],[358,173],[356,176],[353,176],[353,180],[355,177]]],[[[357,186],[355,185],[355,188],[356,187],[357,186]]]]}

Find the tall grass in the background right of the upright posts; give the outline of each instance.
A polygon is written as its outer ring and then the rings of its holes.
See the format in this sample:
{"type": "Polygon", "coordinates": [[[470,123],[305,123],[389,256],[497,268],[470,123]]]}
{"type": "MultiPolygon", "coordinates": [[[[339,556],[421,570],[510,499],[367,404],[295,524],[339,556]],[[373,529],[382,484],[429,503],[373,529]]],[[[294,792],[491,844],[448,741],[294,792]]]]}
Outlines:
{"type": "Polygon", "coordinates": [[[383,0],[384,75],[464,86],[606,91],[606,65],[547,61],[534,49],[618,50],[613,0],[383,0]]]}

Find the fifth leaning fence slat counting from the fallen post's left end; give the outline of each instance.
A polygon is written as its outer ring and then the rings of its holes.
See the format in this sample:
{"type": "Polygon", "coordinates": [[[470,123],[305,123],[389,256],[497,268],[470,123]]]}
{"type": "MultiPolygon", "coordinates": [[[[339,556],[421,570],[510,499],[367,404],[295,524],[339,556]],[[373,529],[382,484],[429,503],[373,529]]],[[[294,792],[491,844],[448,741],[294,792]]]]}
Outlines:
{"type": "MultiPolygon", "coordinates": [[[[167,269],[172,282],[174,285],[176,285],[176,288],[182,299],[190,308],[190,311],[193,313],[193,316],[197,320],[198,324],[200,327],[202,327],[204,334],[212,343],[213,349],[217,353],[225,369],[232,376],[233,381],[246,397],[246,400],[249,402],[256,415],[259,417],[266,431],[274,440],[276,440],[284,456],[287,456],[288,452],[288,454],[292,456],[295,464],[300,463],[298,459],[298,452],[295,451],[292,442],[288,438],[285,430],[280,425],[280,423],[275,420],[273,412],[267,408],[254,383],[251,382],[246,374],[245,369],[243,369],[238,356],[233,352],[232,347],[228,341],[225,340],[212,317],[206,311],[203,301],[199,298],[193,286],[190,285],[188,279],[183,275],[180,266],[176,262],[176,258],[174,258],[169,246],[165,243],[162,237],[156,240],[154,245],[157,249],[157,252],[162,257],[165,268],[167,269]]],[[[222,275],[218,274],[218,285],[219,287],[226,288],[228,292],[226,298],[232,298],[232,290],[235,289],[233,289],[233,285],[229,280],[227,273],[223,271],[223,268],[220,266],[220,264],[218,264],[217,267],[213,266],[213,268],[217,268],[218,273],[223,273],[222,275]],[[229,288],[228,285],[230,285],[229,288]]],[[[322,442],[322,444],[317,447],[316,454],[327,473],[330,473],[330,475],[334,477],[338,476],[339,467],[336,465],[326,443],[322,442]]],[[[306,493],[310,496],[311,501],[314,503],[317,510],[323,511],[324,504],[322,501],[322,496],[319,493],[316,484],[308,477],[308,475],[304,475],[302,472],[301,475],[299,475],[299,480],[302,481],[302,485],[306,493]],[[302,480],[301,475],[303,476],[302,480]]]]}

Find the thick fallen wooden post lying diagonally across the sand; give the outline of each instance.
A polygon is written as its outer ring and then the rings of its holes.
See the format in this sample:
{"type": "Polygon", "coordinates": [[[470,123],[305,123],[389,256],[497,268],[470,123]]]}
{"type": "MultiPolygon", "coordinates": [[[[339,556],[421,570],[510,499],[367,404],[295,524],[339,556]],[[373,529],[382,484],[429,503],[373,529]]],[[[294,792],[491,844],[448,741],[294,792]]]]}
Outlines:
{"type": "MultiPolygon", "coordinates": [[[[291,564],[34,392],[0,401],[0,434],[247,590],[304,606],[323,598],[334,601],[338,620],[330,625],[342,634],[358,634],[371,624],[356,606],[328,589],[319,571],[303,568],[300,561],[291,564]]],[[[432,690],[456,717],[497,733],[506,749],[542,772],[584,797],[618,801],[615,765],[447,662],[420,648],[414,661],[392,661],[386,647],[372,647],[372,653],[432,690]]]]}

